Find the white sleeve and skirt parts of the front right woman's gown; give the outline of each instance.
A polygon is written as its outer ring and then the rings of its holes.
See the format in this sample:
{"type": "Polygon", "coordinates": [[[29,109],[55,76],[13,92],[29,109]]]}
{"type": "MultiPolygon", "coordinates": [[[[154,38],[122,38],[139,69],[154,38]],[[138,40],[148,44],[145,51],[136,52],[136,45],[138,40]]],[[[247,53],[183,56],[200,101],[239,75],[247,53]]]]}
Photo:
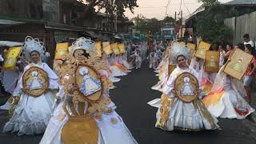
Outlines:
{"type": "MultiPolygon", "coordinates": [[[[217,122],[218,120],[211,115],[208,115],[213,122],[206,117],[204,117],[205,112],[203,110],[207,110],[206,107],[197,108],[194,106],[194,102],[182,102],[179,98],[177,98],[171,90],[174,89],[174,81],[178,77],[179,74],[184,72],[189,72],[194,76],[198,76],[197,73],[193,69],[182,70],[177,67],[172,74],[170,74],[170,78],[166,82],[166,85],[163,87],[162,92],[167,94],[169,98],[173,98],[174,102],[170,108],[169,118],[166,121],[166,127],[162,128],[163,130],[214,130],[218,129],[217,122]]],[[[198,100],[198,102],[201,102],[198,100]]],[[[151,106],[160,106],[157,100],[151,101],[151,106]]],[[[199,106],[199,105],[197,105],[199,106]]],[[[158,108],[158,112],[156,114],[157,119],[160,119],[160,107],[158,108]]],[[[158,125],[156,125],[158,127],[158,125]]]]}

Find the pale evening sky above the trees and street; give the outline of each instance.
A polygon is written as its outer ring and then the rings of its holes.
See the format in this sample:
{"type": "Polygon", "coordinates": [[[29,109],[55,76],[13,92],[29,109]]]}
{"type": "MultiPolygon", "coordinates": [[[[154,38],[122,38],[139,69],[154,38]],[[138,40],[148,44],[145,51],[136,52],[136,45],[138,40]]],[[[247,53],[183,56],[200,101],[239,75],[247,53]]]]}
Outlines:
{"type": "MultiPolygon", "coordinates": [[[[189,18],[190,14],[194,12],[202,3],[198,0],[181,0],[182,1],[182,15],[183,18],[189,18]],[[184,4],[185,3],[185,4],[184,4]],[[186,9],[187,7],[187,9],[186,9]]],[[[180,0],[170,0],[170,5],[167,9],[167,15],[174,17],[175,11],[180,11],[180,0]]],[[[230,2],[232,0],[218,0],[219,2],[230,2]]],[[[158,18],[163,19],[166,16],[166,5],[168,0],[137,0],[139,7],[134,9],[134,14],[130,10],[126,10],[125,14],[128,18],[137,17],[138,14],[142,14],[146,18],[158,18]]],[[[178,18],[180,17],[177,16],[178,18]]]]}

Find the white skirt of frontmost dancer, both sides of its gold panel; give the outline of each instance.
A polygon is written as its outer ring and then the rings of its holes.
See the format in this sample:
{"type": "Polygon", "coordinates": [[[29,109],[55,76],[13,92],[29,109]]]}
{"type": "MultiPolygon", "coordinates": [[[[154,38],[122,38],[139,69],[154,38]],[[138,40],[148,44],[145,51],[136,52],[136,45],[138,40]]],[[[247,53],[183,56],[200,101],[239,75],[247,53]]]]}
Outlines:
{"type": "MultiPolygon", "coordinates": [[[[68,117],[66,116],[62,121],[58,120],[59,115],[65,114],[62,106],[63,102],[54,111],[54,116],[50,118],[40,144],[63,144],[62,127],[68,121],[68,117]]],[[[111,114],[102,114],[101,120],[96,120],[96,122],[99,130],[97,144],[137,144],[125,123],[122,122],[122,118],[115,111],[111,114]],[[118,119],[118,123],[113,124],[111,118],[118,119]]]]}

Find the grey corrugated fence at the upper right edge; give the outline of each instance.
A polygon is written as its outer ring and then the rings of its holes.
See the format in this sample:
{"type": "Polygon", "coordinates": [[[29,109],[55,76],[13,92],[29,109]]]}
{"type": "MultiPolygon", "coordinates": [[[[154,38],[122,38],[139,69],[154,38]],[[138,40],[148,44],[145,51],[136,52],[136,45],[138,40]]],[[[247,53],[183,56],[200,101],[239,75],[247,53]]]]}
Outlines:
{"type": "Polygon", "coordinates": [[[234,32],[234,44],[243,42],[243,34],[250,34],[250,40],[256,42],[256,11],[239,17],[226,18],[224,23],[234,32]]]}

